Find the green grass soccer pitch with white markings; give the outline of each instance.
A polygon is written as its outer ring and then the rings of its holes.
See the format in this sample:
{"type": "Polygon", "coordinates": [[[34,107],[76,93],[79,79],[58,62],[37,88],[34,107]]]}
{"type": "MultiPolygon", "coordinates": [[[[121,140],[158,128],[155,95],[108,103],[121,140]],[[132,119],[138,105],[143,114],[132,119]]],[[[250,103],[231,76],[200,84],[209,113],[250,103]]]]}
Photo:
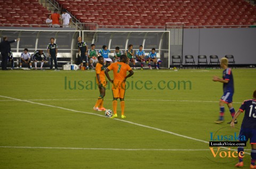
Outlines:
{"type": "MultiPolygon", "coordinates": [[[[92,109],[95,71],[0,71],[0,168],[233,168],[236,158],[214,158],[209,149],[210,133],[239,131],[227,127],[227,106],[225,123],[213,123],[222,95],[214,75],[222,70],[134,70],[127,118],[118,100],[118,118],[110,119],[92,109]]],[[[256,69],[233,76],[237,110],[256,90],[256,69]]],[[[111,86],[104,100],[113,109],[111,86]]],[[[247,150],[245,168],[250,159],[247,150]]]]}

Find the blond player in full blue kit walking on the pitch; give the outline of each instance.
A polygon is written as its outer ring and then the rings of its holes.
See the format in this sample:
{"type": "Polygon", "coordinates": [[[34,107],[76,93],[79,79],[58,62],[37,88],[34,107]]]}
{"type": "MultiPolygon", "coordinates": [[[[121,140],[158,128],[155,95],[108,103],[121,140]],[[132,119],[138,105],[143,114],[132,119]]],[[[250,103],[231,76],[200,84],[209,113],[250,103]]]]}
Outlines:
{"type": "MultiPolygon", "coordinates": [[[[228,68],[228,59],[227,58],[221,58],[220,60],[220,66],[223,68],[222,78],[219,78],[217,76],[213,77],[214,82],[221,82],[223,83],[223,95],[221,96],[219,106],[220,106],[220,116],[219,119],[215,121],[215,123],[223,123],[224,122],[224,104],[226,103],[228,105],[230,115],[232,118],[235,116],[235,109],[233,108],[233,94],[234,94],[234,79],[233,74],[230,68],[228,68]]],[[[228,124],[230,124],[228,122],[228,124]]],[[[235,123],[237,124],[237,120],[235,119],[235,123]]]]}

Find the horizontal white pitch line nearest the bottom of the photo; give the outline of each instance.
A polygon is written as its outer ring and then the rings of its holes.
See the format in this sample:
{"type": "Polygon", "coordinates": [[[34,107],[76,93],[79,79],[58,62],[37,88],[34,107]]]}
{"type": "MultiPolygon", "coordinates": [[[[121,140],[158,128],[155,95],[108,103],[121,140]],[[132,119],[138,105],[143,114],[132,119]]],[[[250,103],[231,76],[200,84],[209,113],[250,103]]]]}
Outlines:
{"type": "Polygon", "coordinates": [[[210,149],[119,149],[119,148],[18,147],[18,146],[0,146],[0,148],[68,149],[68,150],[119,150],[119,151],[210,151],[210,149]]]}

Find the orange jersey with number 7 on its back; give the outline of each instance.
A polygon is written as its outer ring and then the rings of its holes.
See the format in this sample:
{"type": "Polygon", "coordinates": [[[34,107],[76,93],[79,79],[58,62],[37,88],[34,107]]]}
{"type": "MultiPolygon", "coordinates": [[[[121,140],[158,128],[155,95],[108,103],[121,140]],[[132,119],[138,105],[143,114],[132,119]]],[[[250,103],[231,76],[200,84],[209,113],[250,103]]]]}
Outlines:
{"type": "Polygon", "coordinates": [[[129,65],[124,62],[115,62],[109,65],[109,70],[114,72],[114,81],[123,81],[126,77],[126,71],[132,70],[129,65]]]}

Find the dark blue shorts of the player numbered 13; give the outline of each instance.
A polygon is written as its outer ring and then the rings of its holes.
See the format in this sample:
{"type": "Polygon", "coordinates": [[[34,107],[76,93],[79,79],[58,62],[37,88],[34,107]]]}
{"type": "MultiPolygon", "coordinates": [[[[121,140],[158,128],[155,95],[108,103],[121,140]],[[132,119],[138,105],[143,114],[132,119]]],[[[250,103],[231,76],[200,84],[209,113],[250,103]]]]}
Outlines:
{"type": "Polygon", "coordinates": [[[238,139],[246,142],[250,139],[250,144],[256,144],[256,128],[241,128],[238,139]]]}

